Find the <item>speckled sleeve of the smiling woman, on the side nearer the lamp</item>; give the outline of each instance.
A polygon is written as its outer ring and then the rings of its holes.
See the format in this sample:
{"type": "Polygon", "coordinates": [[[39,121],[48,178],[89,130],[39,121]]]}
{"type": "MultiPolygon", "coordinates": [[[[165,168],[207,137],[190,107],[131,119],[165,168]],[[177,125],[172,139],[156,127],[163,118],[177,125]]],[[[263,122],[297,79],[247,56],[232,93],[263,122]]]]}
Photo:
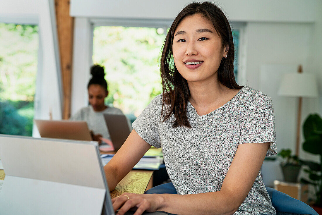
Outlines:
{"type": "Polygon", "coordinates": [[[260,98],[245,112],[240,120],[239,144],[270,143],[266,156],[277,154],[274,109],[271,98],[260,98]]]}

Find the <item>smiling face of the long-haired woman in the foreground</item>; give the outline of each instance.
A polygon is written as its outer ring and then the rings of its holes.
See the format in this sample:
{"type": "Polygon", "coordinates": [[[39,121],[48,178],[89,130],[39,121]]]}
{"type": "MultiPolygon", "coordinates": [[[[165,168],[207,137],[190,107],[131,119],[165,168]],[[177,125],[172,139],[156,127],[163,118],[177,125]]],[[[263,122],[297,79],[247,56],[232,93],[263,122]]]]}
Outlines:
{"type": "Polygon", "coordinates": [[[172,47],[175,66],[188,82],[216,79],[220,62],[228,53],[213,24],[201,14],[181,21],[172,47]]]}

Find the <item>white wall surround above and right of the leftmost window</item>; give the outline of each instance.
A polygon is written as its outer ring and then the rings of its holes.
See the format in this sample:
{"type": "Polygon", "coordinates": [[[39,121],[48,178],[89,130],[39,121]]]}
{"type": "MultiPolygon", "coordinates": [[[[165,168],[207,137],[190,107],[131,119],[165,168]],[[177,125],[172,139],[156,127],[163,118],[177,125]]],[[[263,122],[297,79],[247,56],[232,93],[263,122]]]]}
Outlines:
{"type": "Polygon", "coordinates": [[[5,0],[0,4],[0,22],[15,22],[18,18],[37,17],[39,38],[42,44],[42,66],[38,72],[35,98],[35,118],[49,119],[52,111],[53,119],[61,119],[61,104],[58,90],[56,60],[52,34],[52,23],[49,12],[49,1],[44,0],[5,0]]]}

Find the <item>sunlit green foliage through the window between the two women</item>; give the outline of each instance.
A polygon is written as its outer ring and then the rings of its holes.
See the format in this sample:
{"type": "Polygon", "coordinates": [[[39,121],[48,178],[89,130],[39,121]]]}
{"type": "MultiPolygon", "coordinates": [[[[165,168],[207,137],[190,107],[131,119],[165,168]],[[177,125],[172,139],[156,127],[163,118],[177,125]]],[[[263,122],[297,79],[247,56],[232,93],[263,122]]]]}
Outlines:
{"type": "Polygon", "coordinates": [[[137,117],[162,92],[158,57],[166,35],[159,33],[143,27],[94,29],[93,63],[105,66],[106,102],[125,114],[137,117]]]}

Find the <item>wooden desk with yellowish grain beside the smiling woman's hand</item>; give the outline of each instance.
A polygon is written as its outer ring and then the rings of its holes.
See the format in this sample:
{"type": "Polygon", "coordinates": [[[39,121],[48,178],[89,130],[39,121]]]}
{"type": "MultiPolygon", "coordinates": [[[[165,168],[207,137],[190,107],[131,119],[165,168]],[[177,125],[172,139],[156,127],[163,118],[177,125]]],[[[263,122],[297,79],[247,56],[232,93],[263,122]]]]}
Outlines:
{"type": "MultiPolygon", "coordinates": [[[[131,170],[116,186],[111,198],[121,195],[124,192],[144,193],[152,188],[152,170],[131,170]]],[[[0,170],[0,180],[5,179],[4,170],[0,170]]]]}

